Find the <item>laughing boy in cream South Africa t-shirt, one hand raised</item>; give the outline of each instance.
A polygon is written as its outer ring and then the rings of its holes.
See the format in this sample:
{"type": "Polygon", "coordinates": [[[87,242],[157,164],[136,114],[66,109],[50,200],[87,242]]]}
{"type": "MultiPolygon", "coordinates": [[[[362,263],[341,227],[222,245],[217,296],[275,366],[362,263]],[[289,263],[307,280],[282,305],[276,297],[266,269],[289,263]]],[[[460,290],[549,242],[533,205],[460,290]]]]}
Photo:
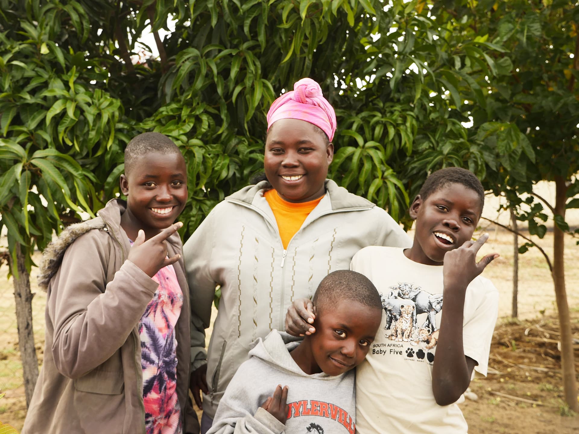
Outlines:
{"type": "MultiPolygon", "coordinates": [[[[499,255],[477,263],[488,235],[471,241],[484,193],[470,171],[434,172],[409,210],[412,248],[366,247],[352,259],[351,270],[376,285],[384,308],[356,372],[358,433],[467,433],[457,403],[473,369],[486,376],[499,300],[479,275],[499,255]]],[[[294,301],[288,332],[314,332],[313,312],[311,301],[294,301]]]]}

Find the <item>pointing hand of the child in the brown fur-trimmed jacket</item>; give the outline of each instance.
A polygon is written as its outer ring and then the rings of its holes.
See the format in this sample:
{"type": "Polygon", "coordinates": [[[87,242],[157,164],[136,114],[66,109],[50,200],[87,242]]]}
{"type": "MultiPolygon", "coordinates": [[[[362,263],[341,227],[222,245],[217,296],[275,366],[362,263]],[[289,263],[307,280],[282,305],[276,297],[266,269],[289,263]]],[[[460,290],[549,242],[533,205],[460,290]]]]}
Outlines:
{"type": "Polygon", "coordinates": [[[168,265],[174,264],[181,258],[177,254],[173,258],[167,258],[167,238],[173,235],[183,223],[174,225],[160,231],[156,236],[145,241],[145,232],[141,229],[137,239],[129,251],[128,260],[143,270],[149,277],[157,274],[157,271],[168,265]]]}

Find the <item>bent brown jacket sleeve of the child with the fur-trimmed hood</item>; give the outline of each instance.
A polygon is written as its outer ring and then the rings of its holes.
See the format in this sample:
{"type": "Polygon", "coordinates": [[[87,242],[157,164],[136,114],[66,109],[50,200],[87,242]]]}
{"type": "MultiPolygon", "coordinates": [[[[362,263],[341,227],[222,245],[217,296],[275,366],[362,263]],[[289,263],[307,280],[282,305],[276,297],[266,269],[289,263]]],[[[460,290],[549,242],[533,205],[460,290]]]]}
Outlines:
{"type": "Polygon", "coordinates": [[[82,377],[124,344],[159,286],[129,260],[107,284],[108,242],[97,230],[76,239],[49,285],[54,336],[46,351],[69,378],[82,377]]]}

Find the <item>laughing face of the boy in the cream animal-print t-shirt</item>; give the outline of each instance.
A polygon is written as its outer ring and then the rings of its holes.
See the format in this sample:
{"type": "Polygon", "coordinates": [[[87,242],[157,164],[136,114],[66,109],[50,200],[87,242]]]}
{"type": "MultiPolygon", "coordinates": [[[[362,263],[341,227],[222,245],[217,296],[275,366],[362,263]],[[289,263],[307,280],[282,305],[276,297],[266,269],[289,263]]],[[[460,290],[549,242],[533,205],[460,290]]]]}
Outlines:
{"type": "Polygon", "coordinates": [[[467,186],[450,183],[426,200],[416,196],[409,212],[416,223],[414,243],[406,256],[422,264],[442,265],[446,252],[471,240],[481,217],[481,197],[467,186]]]}

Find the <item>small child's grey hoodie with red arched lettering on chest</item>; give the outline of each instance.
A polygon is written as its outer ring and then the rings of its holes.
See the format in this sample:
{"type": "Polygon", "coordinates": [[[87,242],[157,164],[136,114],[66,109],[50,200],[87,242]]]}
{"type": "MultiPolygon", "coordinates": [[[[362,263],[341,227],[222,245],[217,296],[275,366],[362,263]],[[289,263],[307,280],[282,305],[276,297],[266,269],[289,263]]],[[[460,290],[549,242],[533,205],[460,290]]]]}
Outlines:
{"type": "Polygon", "coordinates": [[[290,351],[299,345],[273,330],[259,338],[250,359],[241,364],[227,387],[207,434],[354,434],[356,389],[354,370],[332,377],[308,375],[290,351]],[[288,420],[284,424],[261,405],[276,386],[288,386],[288,420]]]}

